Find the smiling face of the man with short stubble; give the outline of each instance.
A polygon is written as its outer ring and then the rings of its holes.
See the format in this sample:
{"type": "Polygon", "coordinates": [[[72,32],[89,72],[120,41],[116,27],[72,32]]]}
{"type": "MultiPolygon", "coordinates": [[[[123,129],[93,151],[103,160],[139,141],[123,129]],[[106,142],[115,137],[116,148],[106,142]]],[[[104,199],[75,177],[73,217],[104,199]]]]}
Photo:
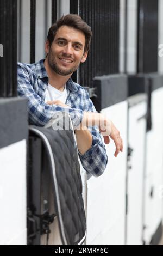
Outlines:
{"type": "Polygon", "coordinates": [[[62,76],[72,74],[80,63],[85,62],[87,52],[84,53],[85,35],[78,29],[62,26],[52,42],[47,40],[45,50],[51,69],[62,76]]]}

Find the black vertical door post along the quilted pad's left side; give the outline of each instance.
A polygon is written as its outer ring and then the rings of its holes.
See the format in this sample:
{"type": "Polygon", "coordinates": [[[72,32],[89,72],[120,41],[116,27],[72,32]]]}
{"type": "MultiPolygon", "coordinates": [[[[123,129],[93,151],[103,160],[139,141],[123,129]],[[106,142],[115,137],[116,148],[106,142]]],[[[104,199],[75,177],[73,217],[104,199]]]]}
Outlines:
{"type": "Polygon", "coordinates": [[[28,245],[40,245],[41,215],[41,139],[29,137],[27,163],[28,245]]]}

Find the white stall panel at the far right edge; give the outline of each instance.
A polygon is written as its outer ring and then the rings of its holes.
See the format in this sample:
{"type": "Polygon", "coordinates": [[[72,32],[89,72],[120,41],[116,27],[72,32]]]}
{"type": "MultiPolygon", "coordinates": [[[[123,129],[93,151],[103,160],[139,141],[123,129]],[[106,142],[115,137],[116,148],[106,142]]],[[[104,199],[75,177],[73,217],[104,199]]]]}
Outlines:
{"type": "Polygon", "coordinates": [[[163,89],[152,93],[152,130],[147,133],[145,235],[151,241],[162,220],[162,173],[163,173],[163,89]],[[153,190],[153,197],[150,196],[153,190]]]}

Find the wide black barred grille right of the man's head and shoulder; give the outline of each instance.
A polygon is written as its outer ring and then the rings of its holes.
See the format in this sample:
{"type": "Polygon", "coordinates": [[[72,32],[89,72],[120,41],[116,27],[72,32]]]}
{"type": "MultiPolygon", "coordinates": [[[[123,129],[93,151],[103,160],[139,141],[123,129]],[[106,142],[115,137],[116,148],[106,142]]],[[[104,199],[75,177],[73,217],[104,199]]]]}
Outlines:
{"type": "Polygon", "coordinates": [[[91,87],[95,76],[119,72],[119,5],[119,0],[70,0],[70,13],[79,14],[93,33],[89,57],[79,68],[83,86],[91,87]]]}

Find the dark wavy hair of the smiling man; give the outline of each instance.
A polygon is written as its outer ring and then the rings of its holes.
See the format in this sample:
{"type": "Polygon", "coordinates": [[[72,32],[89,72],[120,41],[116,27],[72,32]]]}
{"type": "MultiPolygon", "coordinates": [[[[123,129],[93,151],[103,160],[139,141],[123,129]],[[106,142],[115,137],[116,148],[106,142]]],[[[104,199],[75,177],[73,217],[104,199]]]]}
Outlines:
{"type": "Polygon", "coordinates": [[[56,23],[52,25],[52,27],[49,28],[47,39],[50,46],[52,45],[55,35],[61,26],[68,26],[82,31],[85,35],[84,53],[89,51],[92,37],[91,27],[88,26],[87,23],[83,21],[82,18],[77,14],[67,14],[62,16],[56,23]]]}

